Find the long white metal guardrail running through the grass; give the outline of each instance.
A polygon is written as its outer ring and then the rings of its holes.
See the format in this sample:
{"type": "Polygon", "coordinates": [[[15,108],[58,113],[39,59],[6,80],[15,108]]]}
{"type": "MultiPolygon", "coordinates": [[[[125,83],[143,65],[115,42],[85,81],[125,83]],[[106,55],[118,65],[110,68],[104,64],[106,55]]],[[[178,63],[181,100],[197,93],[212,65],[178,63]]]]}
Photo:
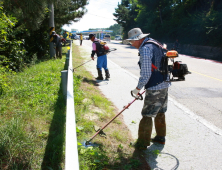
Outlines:
{"type": "MultiPolygon", "coordinates": [[[[68,69],[66,71],[67,75],[65,76],[65,78],[67,78],[67,86],[66,86],[67,90],[66,93],[64,94],[66,96],[65,169],[79,170],[79,159],[78,159],[77,137],[76,137],[76,118],[75,118],[74,93],[73,93],[72,41],[70,41],[70,50],[66,57],[66,62],[68,69]]],[[[62,82],[66,82],[66,80],[64,80],[63,75],[62,79],[63,79],[62,82]]],[[[63,85],[63,87],[64,86],[65,85],[63,85]]]]}

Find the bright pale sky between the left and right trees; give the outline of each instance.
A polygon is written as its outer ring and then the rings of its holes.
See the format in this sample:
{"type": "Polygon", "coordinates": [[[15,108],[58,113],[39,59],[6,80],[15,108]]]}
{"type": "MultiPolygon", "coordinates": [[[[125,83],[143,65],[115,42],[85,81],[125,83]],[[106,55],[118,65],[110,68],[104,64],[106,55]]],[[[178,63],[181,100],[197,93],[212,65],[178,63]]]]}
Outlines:
{"type": "Polygon", "coordinates": [[[121,0],[89,0],[86,5],[88,12],[78,22],[73,22],[70,25],[64,25],[63,29],[71,31],[77,29],[78,31],[86,31],[89,28],[108,28],[111,25],[117,24],[113,13],[117,8],[118,2],[121,0]]]}

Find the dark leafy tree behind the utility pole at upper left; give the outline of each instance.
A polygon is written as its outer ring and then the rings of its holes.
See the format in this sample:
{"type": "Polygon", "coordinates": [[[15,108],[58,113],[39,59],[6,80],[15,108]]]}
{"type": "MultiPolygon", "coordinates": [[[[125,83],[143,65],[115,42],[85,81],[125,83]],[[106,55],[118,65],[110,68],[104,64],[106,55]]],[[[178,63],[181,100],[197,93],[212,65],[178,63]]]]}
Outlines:
{"type": "Polygon", "coordinates": [[[24,40],[23,48],[27,51],[25,62],[31,62],[48,54],[49,49],[49,9],[54,3],[55,27],[60,33],[64,24],[78,21],[86,12],[88,0],[1,0],[7,15],[17,19],[12,28],[16,40],[24,40]]]}

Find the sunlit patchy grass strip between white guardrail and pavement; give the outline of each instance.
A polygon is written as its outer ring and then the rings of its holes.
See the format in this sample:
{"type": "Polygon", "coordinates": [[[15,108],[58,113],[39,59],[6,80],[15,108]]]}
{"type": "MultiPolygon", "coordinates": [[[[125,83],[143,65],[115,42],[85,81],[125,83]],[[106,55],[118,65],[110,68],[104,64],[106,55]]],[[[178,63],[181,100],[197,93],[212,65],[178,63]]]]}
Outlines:
{"type": "MultiPolygon", "coordinates": [[[[90,59],[90,57],[89,57],[90,59]]],[[[73,45],[73,67],[82,64],[79,47],[73,45]]],[[[96,69],[96,68],[95,68],[96,69]]],[[[118,112],[115,106],[106,99],[96,85],[95,78],[79,67],[74,75],[79,78],[79,90],[75,96],[75,112],[77,121],[78,142],[90,139],[98,127],[103,127],[118,112]]],[[[77,89],[77,88],[75,88],[77,89]]],[[[106,136],[97,135],[93,139],[97,147],[79,146],[79,162],[81,170],[146,170],[143,154],[130,146],[131,134],[123,123],[122,115],[104,129],[106,136]]]]}

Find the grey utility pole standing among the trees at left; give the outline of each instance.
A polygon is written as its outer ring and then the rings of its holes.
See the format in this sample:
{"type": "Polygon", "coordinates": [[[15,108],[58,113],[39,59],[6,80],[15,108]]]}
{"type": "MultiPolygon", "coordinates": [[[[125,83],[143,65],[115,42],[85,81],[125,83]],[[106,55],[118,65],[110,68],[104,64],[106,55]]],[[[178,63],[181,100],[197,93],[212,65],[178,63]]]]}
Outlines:
{"type": "Polygon", "coordinates": [[[55,49],[53,47],[53,36],[52,36],[52,31],[55,31],[55,24],[54,24],[54,6],[53,3],[49,4],[49,10],[50,10],[50,15],[49,15],[49,53],[50,53],[50,58],[55,56],[55,49]]]}

